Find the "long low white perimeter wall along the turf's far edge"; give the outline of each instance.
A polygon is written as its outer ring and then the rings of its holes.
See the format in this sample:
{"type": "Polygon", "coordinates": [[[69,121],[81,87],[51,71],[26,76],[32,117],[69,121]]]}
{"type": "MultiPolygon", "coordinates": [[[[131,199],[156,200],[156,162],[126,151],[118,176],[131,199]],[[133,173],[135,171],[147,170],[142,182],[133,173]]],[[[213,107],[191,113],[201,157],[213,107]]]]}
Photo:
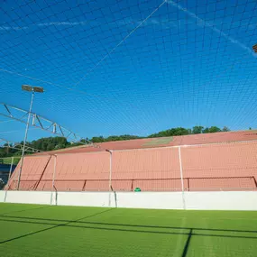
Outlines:
{"type": "Polygon", "coordinates": [[[257,210],[257,192],[41,192],[0,191],[0,202],[84,207],[257,210]]]}

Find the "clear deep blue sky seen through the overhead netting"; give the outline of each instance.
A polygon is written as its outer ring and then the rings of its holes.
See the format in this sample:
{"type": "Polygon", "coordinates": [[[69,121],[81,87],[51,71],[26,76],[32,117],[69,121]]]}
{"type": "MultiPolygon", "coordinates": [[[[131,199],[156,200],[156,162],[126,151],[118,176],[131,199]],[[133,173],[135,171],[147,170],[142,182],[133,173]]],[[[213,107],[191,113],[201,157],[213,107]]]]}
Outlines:
{"type": "MultiPolygon", "coordinates": [[[[256,1],[7,1],[0,102],[84,137],[256,125],[256,1]],[[240,3],[239,3],[240,2],[240,3]]],[[[24,125],[0,116],[0,137],[24,125]],[[4,123],[3,123],[4,122],[4,123]]],[[[50,136],[30,130],[29,140],[50,136]]]]}

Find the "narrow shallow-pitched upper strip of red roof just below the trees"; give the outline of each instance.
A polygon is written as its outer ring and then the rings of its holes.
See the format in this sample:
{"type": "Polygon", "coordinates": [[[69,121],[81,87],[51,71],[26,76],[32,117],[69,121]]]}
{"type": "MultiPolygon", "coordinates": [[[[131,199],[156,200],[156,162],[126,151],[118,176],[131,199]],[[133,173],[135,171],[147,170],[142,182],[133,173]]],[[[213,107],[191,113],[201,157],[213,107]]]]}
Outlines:
{"type": "Polygon", "coordinates": [[[167,147],[176,145],[192,145],[205,144],[216,142],[237,142],[237,141],[252,141],[257,140],[257,131],[239,131],[239,132],[221,132],[221,133],[200,133],[180,135],[173,137],[161,138],[144,138],[133,139],[127,141],[115,142],[100,142],[97,143],[98,148],[92,146],[81,146],[75,148],[62,149],[60,151],[45,151],[41,154],[61,154],[61,153],[76,153],[76,152],[91,152],[91,151],[106,151],[107,150],[129,150],[129,149],[145,149],[156,147],[167,147]]]}

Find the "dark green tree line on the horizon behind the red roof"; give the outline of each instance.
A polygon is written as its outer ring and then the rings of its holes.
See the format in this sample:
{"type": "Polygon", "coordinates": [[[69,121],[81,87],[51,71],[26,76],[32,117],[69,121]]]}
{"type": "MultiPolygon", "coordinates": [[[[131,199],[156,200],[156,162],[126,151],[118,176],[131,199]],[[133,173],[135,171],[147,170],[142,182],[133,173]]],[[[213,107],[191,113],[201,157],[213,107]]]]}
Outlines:
{"type": "MultiPolygon", "coordinates": [[[[87,142],[87,140],[91,142],[111,142],[111,141],[122,141],[122,140],[131,140],[131,139],[140,139],[140,138],[152,138],[152,137],[165,137],[165,136],[176,136],[176,135],[187,135],[187,134],[197,134],[197,133],[217,133],[217,132],[228,132],[230,131],[228,127],[223,127],[222,129],[217,126],[211,127],[203,127],[200,125],[194,126],[193,128],[170,128],[168,130],[161,131],[159,133],[152,133],[147,137],[142,137],[138,135],[111,135],[108,137],[104,136],[94,136],[91,139],[82,140],[82,142],[87,142]]],[[[23,142],[21,142],[23,144],[23,142]]],[[[68,142],[64,137],[43,137],[38,140],[34,140],[32,142],[27,142],[26,145],[41,150],[41,151],[52,151],[68,148],[71,146],[81,145],[81,143],[71,143],[68,142]]],[[[21,150],[16,150],[12,148],[8,148],[7,145],[0,147],[0,158],[10,157],[10,156],[19,156],[22,155],[21,150]]]]}

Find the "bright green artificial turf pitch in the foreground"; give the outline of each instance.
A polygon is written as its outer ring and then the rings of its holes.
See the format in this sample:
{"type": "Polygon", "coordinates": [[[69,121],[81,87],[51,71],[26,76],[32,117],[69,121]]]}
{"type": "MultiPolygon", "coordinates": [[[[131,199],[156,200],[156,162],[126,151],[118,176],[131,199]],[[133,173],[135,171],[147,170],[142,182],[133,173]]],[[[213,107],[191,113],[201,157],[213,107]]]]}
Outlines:
{"type": "Polygon", "coordinates": [[[256,257],[257,212],[0,204],[0,256],[256,257]]]}

